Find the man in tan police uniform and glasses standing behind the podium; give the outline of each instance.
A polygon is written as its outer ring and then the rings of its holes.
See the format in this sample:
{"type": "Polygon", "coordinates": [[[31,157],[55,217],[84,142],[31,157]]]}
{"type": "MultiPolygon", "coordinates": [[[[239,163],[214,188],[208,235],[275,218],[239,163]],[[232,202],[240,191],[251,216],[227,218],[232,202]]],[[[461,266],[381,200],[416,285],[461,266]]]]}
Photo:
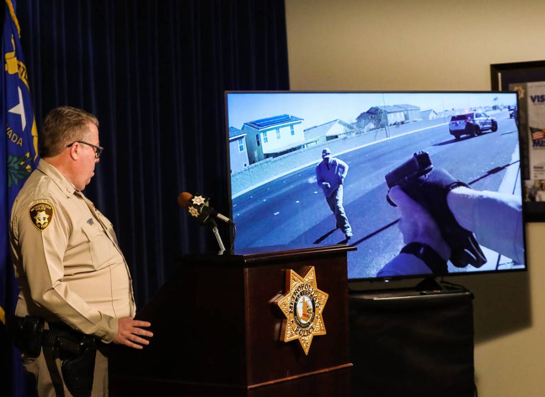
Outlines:
{"type": "MultiPolygon", "coordinates": [[[[61,106],[44,119],[37,169],[17,195],[10,244],[20,292],[15,314],[45,320],[45,329],[69,327],[110,342],[142,348],[153,336],[133,320],[132,279],[111,222],[82,193],[102,147],[92,114],[61,106]]],[[[93,396],[107,395],[107,349],[96,351],[93,396]]],[[[55,351],[22,353],[39,396],[71,395],[55,351]]]]}

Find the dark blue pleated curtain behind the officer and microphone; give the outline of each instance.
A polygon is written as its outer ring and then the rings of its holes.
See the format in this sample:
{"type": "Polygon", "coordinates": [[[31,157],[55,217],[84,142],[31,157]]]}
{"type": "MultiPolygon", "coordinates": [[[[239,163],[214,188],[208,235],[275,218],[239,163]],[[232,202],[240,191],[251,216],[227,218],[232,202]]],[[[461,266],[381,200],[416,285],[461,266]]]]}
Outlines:
{"type": "Polygon", "coordinates": [[[175,258],[216,250],[177,197],[198,191],[228,213],[223,91],[289,89],[284,2],[19,0],[17,17],[38,130],[59,105],[99,118],[86,195],[113,222],[142,306],[175,258]]]}

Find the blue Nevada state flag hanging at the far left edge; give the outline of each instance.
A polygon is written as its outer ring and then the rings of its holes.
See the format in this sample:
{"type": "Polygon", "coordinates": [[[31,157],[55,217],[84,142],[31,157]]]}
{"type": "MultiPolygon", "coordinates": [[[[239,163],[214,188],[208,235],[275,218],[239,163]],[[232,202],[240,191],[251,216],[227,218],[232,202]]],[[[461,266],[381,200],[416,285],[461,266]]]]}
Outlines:
{"type": "MultiPolygon", "coordinates": [[[[15,15],[15,0],[4,0],[5,18],[2,33],[2,63],[0,70],[0,309],[13,313],[17,298],[9,254],[8,222],[11,206],[27,177],[38,165],[38,129],[34,120],[28,74],[20,43],[19,21],[15,15]]],[[[3,327],[4,318],[0,318],[3,327]]],[[[9,341],[2,341],[9,344],[9,341]]],[[[13,395],[20,395],[18,386],[24,378],[20,368],[19,353],[0,345],[0,364],[9,362],[11,373],[0,378],[5,395],[10,386],[13,395]],[[7,378],[7,379],[4,379],[7,378]],[[5,383],[7,382],[7,383],[5,383]]],[[[0,365],[2,366],[2,365],[0,365]]],[[[1,394],[1,393],[0,393],[1,394]]]]}

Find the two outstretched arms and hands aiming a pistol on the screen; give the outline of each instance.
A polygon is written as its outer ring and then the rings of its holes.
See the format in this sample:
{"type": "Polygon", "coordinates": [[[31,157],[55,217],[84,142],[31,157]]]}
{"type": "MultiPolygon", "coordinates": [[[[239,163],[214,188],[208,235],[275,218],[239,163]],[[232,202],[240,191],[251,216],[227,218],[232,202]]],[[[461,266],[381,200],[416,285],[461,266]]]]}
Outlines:
{"type": "Polygon", "coordinates": [[[406,245],[377,275],[443,275],[448,273],[446,260],[457,267],[480,267],[486,257],[479,242],[524,263],[520,196],[471,189],[448,172],[433,169],[426,152],[415,153],[389,172],[386,183],[387,200],[400,210],[399,230],[406,245]]]}

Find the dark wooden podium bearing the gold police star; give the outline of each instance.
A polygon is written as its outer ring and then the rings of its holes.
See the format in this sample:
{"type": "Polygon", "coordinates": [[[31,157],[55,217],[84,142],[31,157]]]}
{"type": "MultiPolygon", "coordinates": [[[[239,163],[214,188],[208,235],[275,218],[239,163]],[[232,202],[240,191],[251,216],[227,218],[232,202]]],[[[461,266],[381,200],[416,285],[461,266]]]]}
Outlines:
{"type": "Polygon", "coordinates": [[[111,346],[112,396],[348,396],[348,245],[184,256],[179,271],[138,311],[152,323],[149,346],[111,346]],[[286,270],[314,266],[326,335],[308,356],[298,340],[280,341],[274,303],[286,270]]]}

